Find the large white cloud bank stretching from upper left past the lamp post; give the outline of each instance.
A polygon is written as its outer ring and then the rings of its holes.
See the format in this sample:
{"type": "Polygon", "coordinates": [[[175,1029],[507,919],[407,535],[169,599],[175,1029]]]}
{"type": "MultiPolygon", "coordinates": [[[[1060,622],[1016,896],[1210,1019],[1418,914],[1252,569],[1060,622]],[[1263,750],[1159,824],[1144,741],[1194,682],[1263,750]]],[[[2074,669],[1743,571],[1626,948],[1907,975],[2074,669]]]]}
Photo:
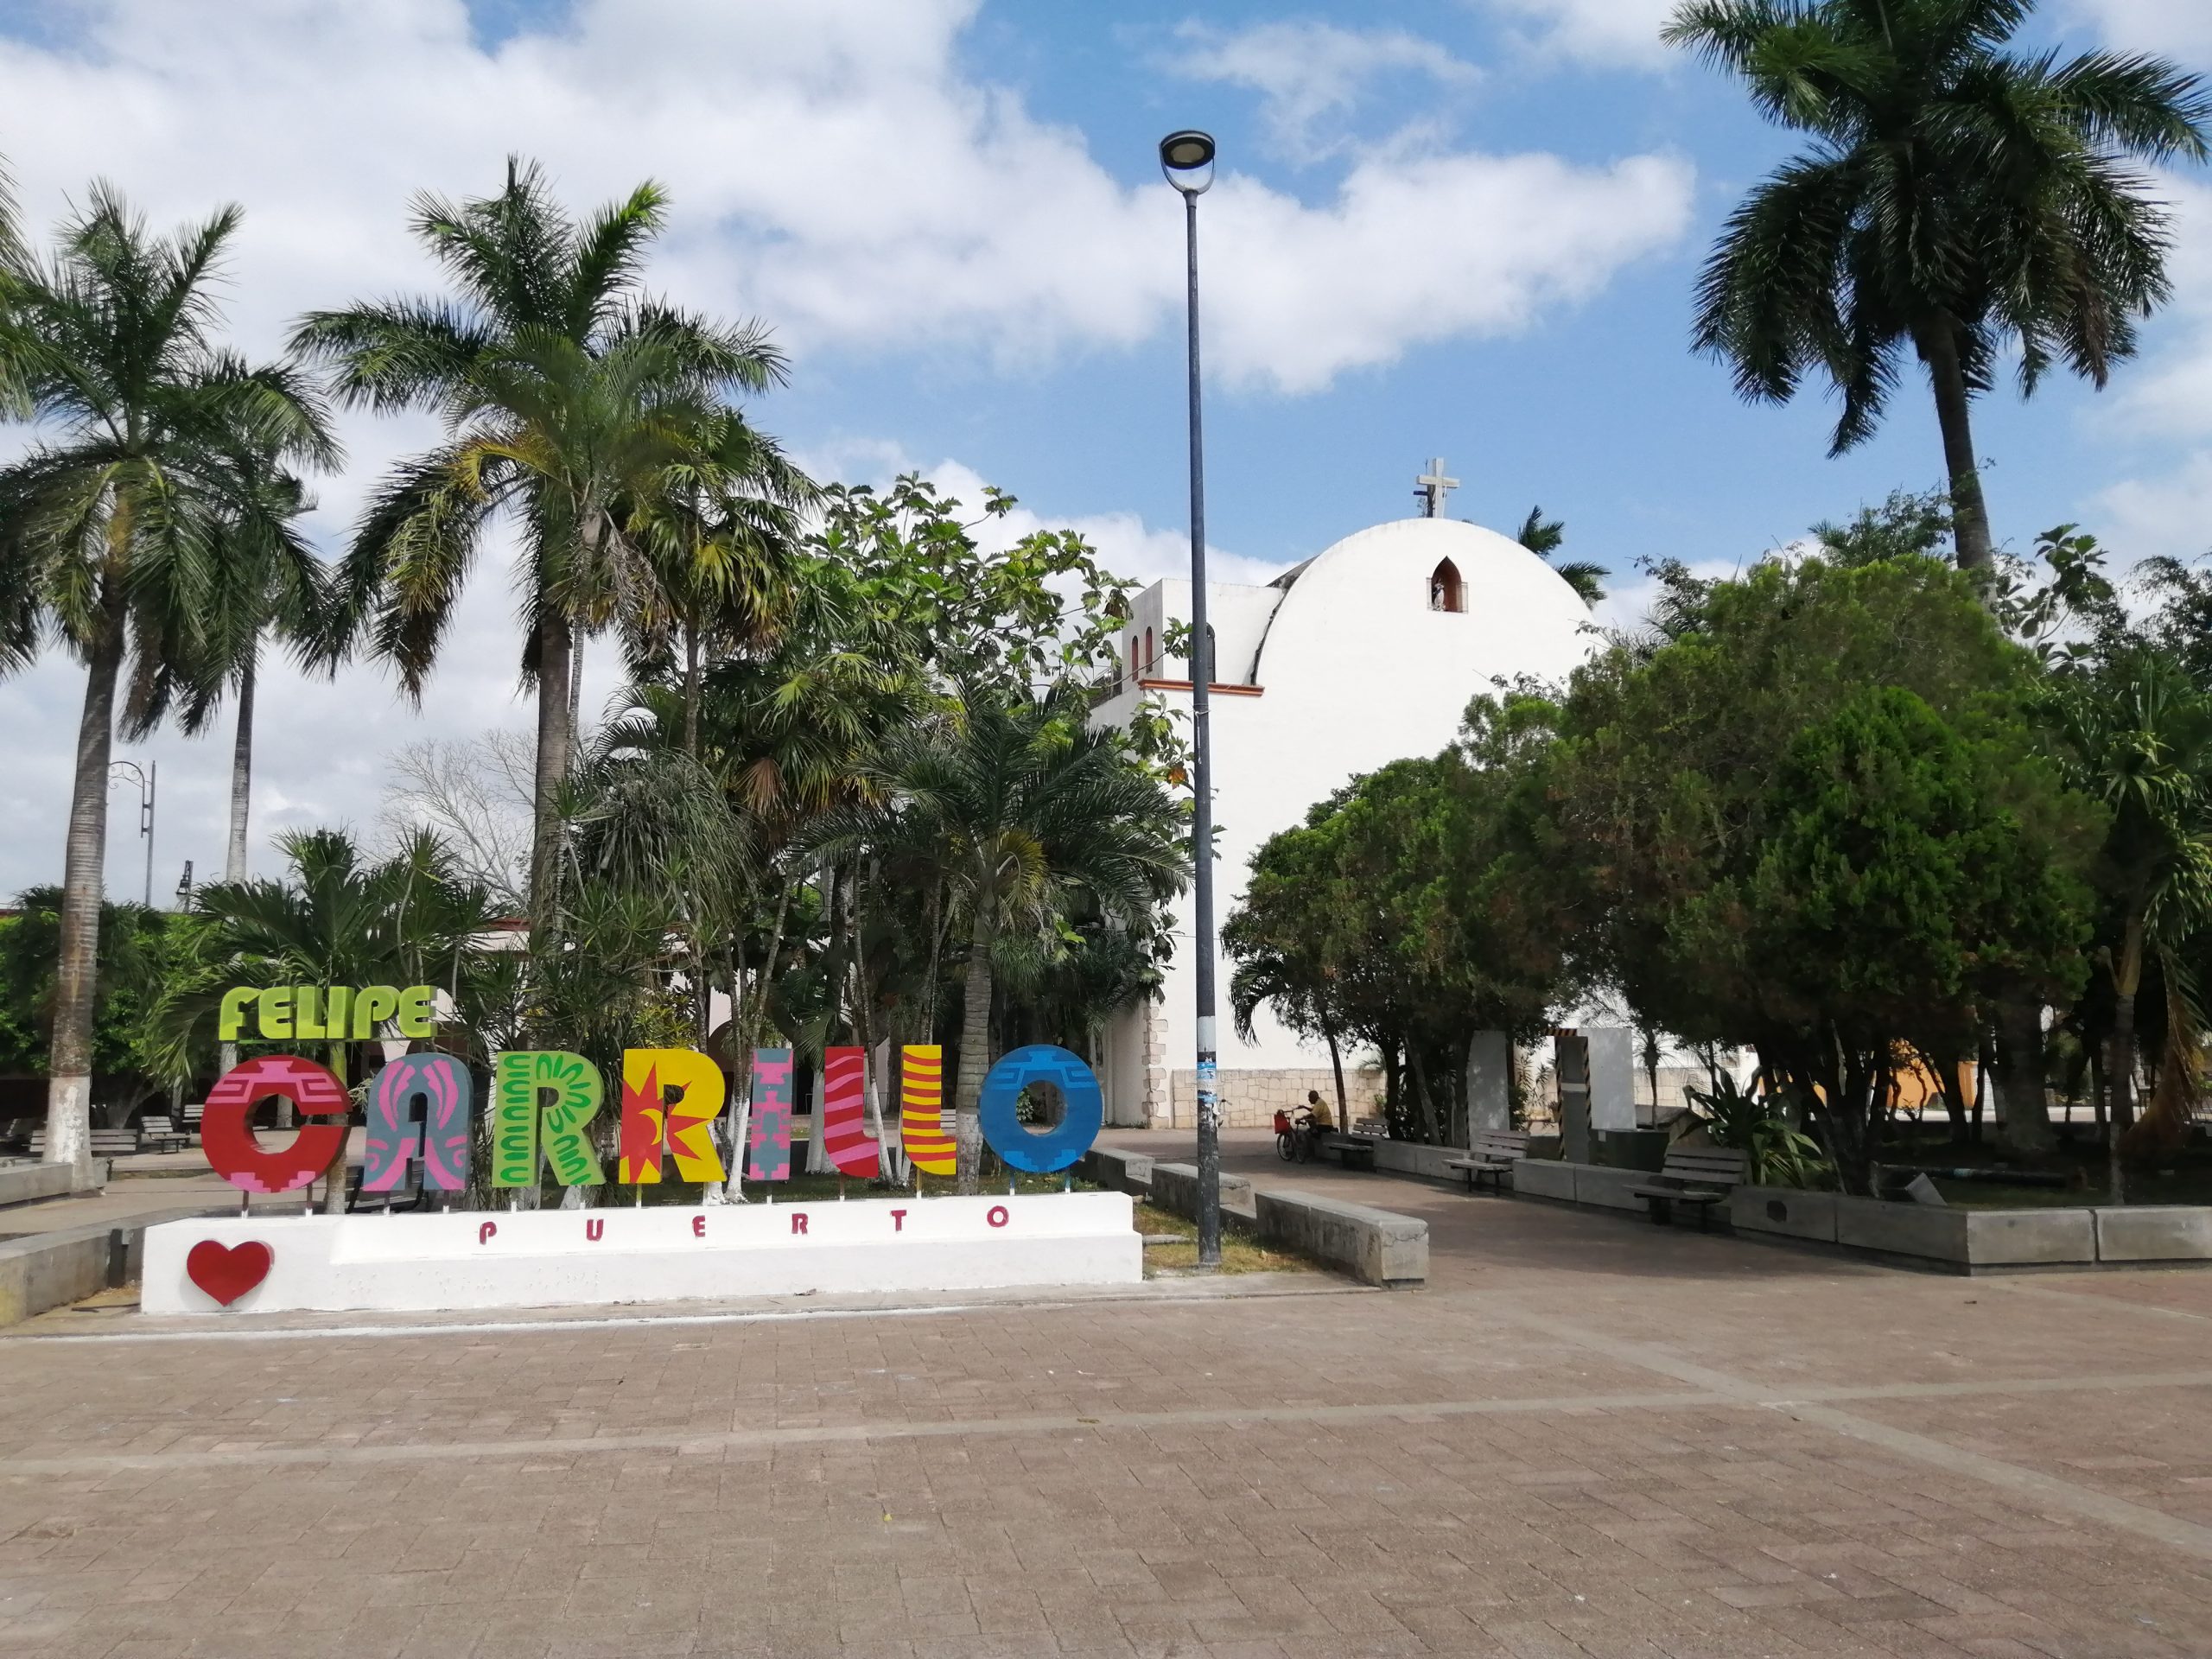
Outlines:
{"type": "MultiPolygon", "coordinates": [[[[577,0],[560,29],[484,51],[460,0],[111,0],[80,13],[82,40],[0,42],[0,106],[33,219],[95,173],[157,219],[248,204],[239,323],[261,347],[310,305],[422,288],[409,195],[482,192],[509,150],[544,159],[577,204],[664,179],[675,232],[657,279],[770,319],[801,354],[1035,363],[1152,334],[1181,299],[1172,192],[1148,157],[1119,184],[1079,133],[962,69],[973,9],[577,0]]],[[[1303,392],[1438,332],[1517,327],[1681,234],[1686,173],[1380,157],[1318,206],[1225,177],[1208,279],[1225,299],[1261,294],[1265,327],[1223,330],[1214,363],[1303,392]],[[1480,237],[1453,232],[1478,217],[1480,237]],[[1343,281],[1352,263],[1411,279],[1422,305],[1396,281],[1343,281]],[[1442,330],[1429,294],[1462,296],[1442,330]]]]}

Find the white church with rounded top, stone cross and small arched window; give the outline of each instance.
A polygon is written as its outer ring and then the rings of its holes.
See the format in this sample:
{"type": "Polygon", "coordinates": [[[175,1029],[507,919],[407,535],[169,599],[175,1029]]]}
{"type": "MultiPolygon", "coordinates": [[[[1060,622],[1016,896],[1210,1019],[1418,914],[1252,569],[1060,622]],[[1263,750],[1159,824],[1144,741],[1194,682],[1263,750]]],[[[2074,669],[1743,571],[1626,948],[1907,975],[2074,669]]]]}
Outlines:
{"type": "MultiPolygon", "coordinates": [[[[1427,493],[1431,509],[1442,482],[1427,493]]],[[[1376,524],[1267,586],[1208,582],[1206,599],[1217,927],[1243,898],[1267,836],[1303,823],[1307,807],[1363,772],[1440,752],[1469,699],[1495,681],[1566,679],[1593,648],[1590,613],[1557,571],[1498,531],[1447,518],[1376,524]]],[[[1124,679],[1095,723],[1126,721],[1146,695],[1190,708],[1190,664],[1161,646],[1188,617],[1190,582],[1155,582],[1137,597],[1121,637],[1124,679]]],[[[1197,1124],[1188,896],[1177,940],[1159,1000],[1121,1013],[1097,1055],[1108,1124],[1197,1124]]],[[[1265,1126],[1307,1088],[1334,1099],[1325,1046],[1294,1037],[1265,1009],[1254,1042],[1237,1037],[1228,982],[1223,962],[1221,1121],[1265,1126]]],[[[1349,1082],[1352,1055],[1345,1062],[1349,1082]]],[[[1363,1106],[1354,1099],[1354,1115],[1363,1106]]]]}

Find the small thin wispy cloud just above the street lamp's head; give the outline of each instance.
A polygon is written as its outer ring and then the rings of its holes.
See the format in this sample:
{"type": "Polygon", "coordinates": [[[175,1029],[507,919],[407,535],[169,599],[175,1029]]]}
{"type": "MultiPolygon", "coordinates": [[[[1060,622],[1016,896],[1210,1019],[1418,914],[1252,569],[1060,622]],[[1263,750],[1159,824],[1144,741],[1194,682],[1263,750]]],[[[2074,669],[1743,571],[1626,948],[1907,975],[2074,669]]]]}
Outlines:
{"type": "Polygon", "coordinates": [[[1402,29],[1263,22],[1230,31],[1186,22],[1175,33],[1181,49],[1164,60],[1166,69],[1256,91],[1267,133],[1292,161],[1336,153],[1343,137],[1323,137],[1321,128],[1340,126],[1389,75],[1422,75],[1440,86],[1480,80],[1473,64],[1402,29]]]}

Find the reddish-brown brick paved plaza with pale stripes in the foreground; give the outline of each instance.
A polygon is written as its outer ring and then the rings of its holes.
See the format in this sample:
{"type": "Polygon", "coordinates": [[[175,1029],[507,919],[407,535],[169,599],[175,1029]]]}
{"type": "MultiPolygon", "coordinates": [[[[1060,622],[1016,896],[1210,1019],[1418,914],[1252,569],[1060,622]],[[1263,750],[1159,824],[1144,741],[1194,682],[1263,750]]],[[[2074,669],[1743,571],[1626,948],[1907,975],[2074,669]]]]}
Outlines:
{"type": "Polygon", "coordinates": [[[2212,1652],[2212,1274],[1296,1183],[1427,1217],[1431,1287],[49,1314],[0,1340],[0,1652],[2212,1652]]]}

